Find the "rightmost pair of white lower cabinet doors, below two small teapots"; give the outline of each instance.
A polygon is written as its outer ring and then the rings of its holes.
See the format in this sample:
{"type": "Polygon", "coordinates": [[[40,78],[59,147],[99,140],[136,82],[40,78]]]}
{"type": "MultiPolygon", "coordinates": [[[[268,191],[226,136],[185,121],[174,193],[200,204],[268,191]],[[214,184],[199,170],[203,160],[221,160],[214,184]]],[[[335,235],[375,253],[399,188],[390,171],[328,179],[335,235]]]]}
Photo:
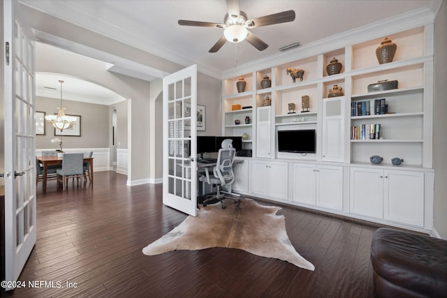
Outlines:
{"type": "Polygon", "coordinates": [[[423,227],[424,174],[351,168],[351,213],[423,227]]]}

